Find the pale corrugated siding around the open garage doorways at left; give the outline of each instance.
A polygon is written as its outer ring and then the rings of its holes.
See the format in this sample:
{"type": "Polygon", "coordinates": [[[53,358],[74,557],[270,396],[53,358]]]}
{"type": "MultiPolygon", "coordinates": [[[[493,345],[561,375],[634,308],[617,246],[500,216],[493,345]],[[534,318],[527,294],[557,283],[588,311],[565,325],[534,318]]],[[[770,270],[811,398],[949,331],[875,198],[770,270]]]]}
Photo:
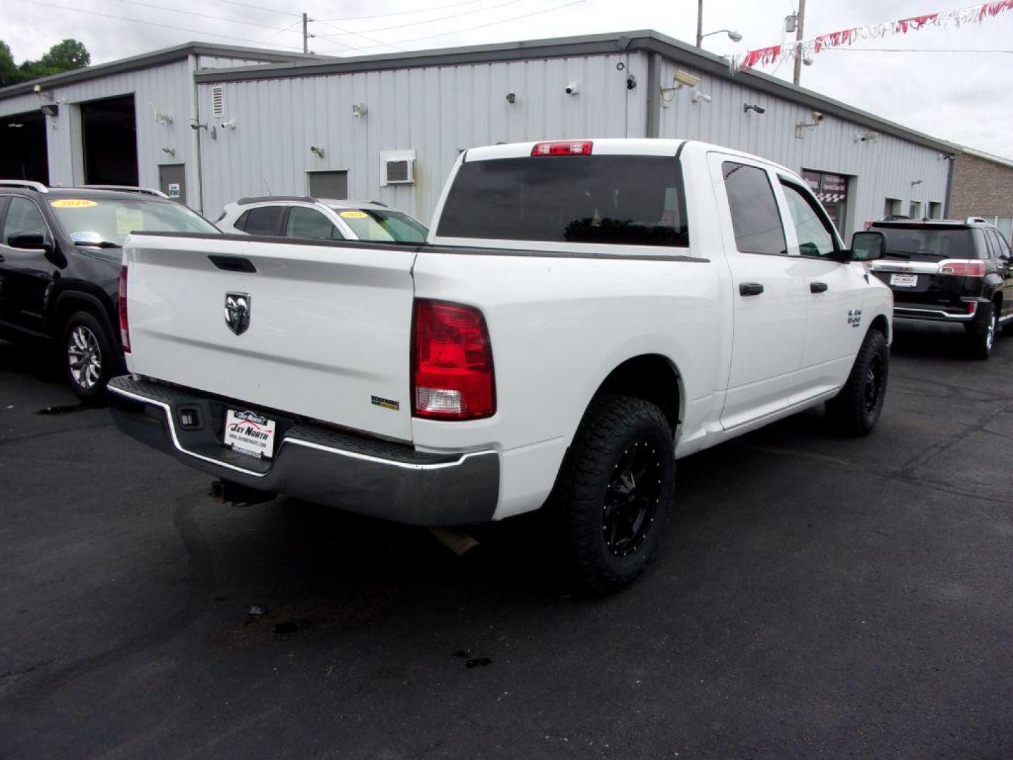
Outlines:
{"type": "MultiPolygon", "coordinates": [[[[134,94],[137,108],[138,172],[142,185],[158,186],[158,164],[185,163],[189,205],[197,198],[197,174],[191,156],[189,129],[192,78],[186,61],[139,71],[96,77],[50,90],[60,104],[60,115],[48,119],[50,182],[74,184],[83,180],[80,138],[81,102],[115,95],[134,94]],[[171,124],[159,124],[155,111],[172,116],[171,124]],[[169,156],[162,148],[172,148],[169,156]]],[[[42,100],[31,93],[0,101],[0,116],[37,110],[42,100]]]]}

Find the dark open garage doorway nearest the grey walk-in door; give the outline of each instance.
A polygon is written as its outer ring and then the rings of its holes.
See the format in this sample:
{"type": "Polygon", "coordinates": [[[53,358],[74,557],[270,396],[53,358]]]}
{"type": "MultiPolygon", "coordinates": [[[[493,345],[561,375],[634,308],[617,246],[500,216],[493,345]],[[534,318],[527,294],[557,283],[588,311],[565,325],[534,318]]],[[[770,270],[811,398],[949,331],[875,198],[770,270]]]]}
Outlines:
{"type": "Polygon", "coordinates": [[[85,184],[137,184],[134,96],[81,103],[85,184]]]}

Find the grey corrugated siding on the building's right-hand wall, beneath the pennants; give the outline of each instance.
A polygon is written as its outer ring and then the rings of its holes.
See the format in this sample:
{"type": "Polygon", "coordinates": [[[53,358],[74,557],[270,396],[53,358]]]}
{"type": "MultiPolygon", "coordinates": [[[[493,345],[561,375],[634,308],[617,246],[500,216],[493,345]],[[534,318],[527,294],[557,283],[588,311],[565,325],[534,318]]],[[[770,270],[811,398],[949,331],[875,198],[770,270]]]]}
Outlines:
{"type": "MultiPolygon", "coordinates": [[[[661,85],[671,87],[677,66],[665,61],[661,85]]],[[[812,111],[801,105],[757,93],[735,82],[701,75],[700,91],[711,101],[693,102],[690,88],[683,87],[669,103],[661,103],[660,137],[688,137],[755,153],[794,170],[814,169],[848,174],[855,179],[849,187],[850,229],[845,237],[862,229],[864,223],[883,215],[886,198],[942,203],[946,199],[949,161],[942,154],[915,143],[880,134],[876,142],[857,142],[855,136],[867,128],[827,116],[819,127],[795,137],[795,125],[812,123],[812,111]],[[765,113],[743,111],[744,103],[757,103],[765,113]],[[921,179],[919,184],[912,181],[921,179]]]]}

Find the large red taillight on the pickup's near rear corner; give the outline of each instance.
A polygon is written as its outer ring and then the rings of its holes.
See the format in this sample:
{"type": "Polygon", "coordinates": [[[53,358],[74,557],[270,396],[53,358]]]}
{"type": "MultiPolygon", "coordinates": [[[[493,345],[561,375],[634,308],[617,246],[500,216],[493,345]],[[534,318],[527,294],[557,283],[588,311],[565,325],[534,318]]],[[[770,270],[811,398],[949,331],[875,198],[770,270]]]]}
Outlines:
{"type": "Polygon", "coordinates": [[[494,414],[492,348],[482,312],[416,299],[411,376],[415,416],[478,420],[494,414]]]}

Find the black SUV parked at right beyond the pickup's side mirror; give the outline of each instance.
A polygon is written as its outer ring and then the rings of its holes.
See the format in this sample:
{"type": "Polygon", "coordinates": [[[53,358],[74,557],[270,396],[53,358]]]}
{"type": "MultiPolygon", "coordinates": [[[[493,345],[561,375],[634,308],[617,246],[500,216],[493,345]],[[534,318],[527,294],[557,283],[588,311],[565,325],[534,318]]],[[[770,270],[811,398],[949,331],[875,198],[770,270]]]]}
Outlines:
{"type": "Polygon", "coordinates": [[[873,274],[893,291],[893,316],[962,324],[979,359],[1013,320],[1013,264],[1003,234],[984,219],[889,220],[871,231],[886,236],[873,274]]]}

